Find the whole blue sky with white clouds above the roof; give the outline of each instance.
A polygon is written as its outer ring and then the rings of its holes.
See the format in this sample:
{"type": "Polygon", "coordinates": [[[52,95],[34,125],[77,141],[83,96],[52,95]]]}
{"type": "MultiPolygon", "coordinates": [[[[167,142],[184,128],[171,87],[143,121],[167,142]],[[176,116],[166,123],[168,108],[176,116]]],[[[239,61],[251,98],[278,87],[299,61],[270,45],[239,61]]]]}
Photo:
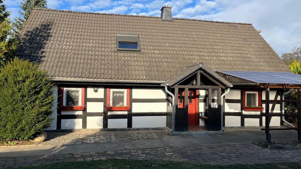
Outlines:
{"type": "MultiPolygon", "coordinates": [[[[11,18],[22,0],[5,0],[11,18]]],[[[301,45],[301,0],[47,0],[48,8],[113,14],[160,16],[163,5],[172,17],[252,23],[281,56],[301,45]]]]}

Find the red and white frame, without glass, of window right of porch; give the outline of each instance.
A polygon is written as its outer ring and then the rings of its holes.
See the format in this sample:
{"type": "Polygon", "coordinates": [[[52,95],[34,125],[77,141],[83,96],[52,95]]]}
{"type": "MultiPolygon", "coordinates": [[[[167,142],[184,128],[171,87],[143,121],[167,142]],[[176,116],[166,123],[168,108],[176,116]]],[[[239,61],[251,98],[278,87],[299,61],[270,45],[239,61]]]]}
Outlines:
{"type": "Polygon", "coordinates": [[[261,98],[262,98],[262,91],[261,90],[243,90],[243,110],[244,111],[262,111],[263,108],[261,106],[261,98]],[[247,93],[256,93],[257,95],[257,102],[254,107],[247,107],[247,93]]]}

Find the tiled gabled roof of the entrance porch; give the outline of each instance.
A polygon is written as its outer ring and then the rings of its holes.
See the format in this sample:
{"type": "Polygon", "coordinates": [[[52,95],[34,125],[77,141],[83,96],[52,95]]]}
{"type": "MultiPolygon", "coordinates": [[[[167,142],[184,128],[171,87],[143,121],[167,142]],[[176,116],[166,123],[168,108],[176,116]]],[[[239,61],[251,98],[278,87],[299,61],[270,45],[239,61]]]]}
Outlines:
{"type": "Polygon", "coordinates": [[[182,69],[180,72],[169,78],[165,84],[168,84],[169,86],[174,86],[175,84],[180,83],[181,81],[185,80],[186,78],[190,77],[190,75],[193,75],[198,70],[202,70],[206,72],[206,74],[209,74],[214,78],[214,80],[221,82],[226,87],[231,87],[232,84],[228,81],[226,81],[224,78],[219,76],[217,73],[215,73],[212,69],[205,66],[203,63],[197,63],[196,65],[192,66],[186,66],[184,69],[182,69]]]}

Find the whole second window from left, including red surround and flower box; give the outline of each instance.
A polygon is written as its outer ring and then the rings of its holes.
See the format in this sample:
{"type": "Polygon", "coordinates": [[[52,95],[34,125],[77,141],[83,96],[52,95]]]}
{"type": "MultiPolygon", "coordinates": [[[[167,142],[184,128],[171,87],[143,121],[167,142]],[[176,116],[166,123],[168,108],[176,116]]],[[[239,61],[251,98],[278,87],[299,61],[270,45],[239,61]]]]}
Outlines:
{"type": "Polygon", "coordinates": [[[129,111],[129,89],[107,89],[107,110],[129,111]]]}

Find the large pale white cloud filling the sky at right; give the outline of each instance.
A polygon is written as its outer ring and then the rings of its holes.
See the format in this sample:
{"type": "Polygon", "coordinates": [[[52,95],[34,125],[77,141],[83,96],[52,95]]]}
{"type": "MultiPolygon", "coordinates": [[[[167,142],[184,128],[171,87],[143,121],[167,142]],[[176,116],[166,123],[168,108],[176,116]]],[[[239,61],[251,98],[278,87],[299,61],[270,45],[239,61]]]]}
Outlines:
{"type": "Polygon", "coordinates": [[[301,1],[253,0],[238,5],[231,2],[216,1],[218,7],[213,14],[196,15],[193,18],[252,23],[256,29],[262,30],[260,35],[279,56],[301,45],[301,1]],[[227,2],[230,4],[225,7],[223,4],[227,2]]]}

